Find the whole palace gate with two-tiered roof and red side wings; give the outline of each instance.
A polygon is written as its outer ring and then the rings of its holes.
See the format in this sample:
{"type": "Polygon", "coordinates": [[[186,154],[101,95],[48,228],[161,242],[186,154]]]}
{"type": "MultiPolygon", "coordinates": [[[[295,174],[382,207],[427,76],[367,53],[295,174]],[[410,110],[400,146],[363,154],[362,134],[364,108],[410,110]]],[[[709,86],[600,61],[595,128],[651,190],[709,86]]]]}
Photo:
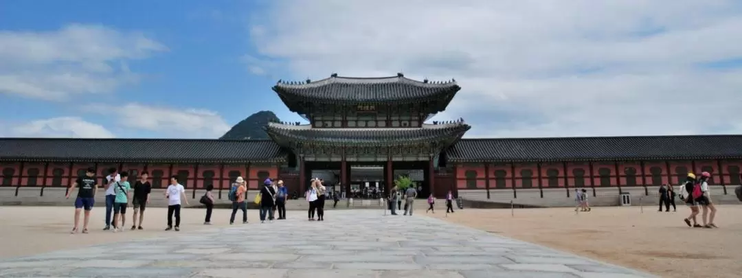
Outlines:
{"type": "Polygon", "coordinates": [[[88,167],[99,176],[112,167],[148,171],[154,188],[178,175],[193,198],[211,184],[223,199],[237,176],[249,190],[283,179],[299,195],[321,176],[343,196],[378,197],[408,175],[423,197],[453,191],[530,205],[569,205],[574,188],[611,200],[652,195],[690,171],[712,173],[718,196],[742,184],[740,135],[462,139],[471,128],[464,119],[431,119],[461,90],[453,79],[332,74],[272,89],[309,123],[269,123],[270,139],[260,140],[2,138],[0,201],[59,198],[88,167]],[[374,194],[364,195],[369,188],[374,194]]]}

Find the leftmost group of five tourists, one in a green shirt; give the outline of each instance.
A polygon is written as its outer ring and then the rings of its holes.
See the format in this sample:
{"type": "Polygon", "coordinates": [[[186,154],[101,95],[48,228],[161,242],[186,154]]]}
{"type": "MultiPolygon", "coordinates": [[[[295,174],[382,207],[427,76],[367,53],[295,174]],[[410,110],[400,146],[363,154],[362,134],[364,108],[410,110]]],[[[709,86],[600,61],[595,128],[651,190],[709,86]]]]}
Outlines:
{"type": "MultiPolygon", "coordinates": [[[[104,231],[122,231],[126,225],[126,211],[128,208],[129,197],[131,196],[131,205],[134,210],[134,216],[131,222],[131,230],[143,230],[144,211],[147,208],[152,191],[152,185],[148,181],[149,173],[143,171],[139,180],[134,182],[134,187],[128,182],[129,173],[122,171],[119,173],[116,168],[108,169],[108,176],[105,177],[105,228],[104,231]],[[131,191],[134,189],[134,193],[131,191]],[[113,216],[113,219],[111,219],[113,216]],[[138,220],[138,221],[137,221],[138,220]]],[[[95,177],[95,169],[88,168],[85,176],[79,176],[67,191],[66,198],[70,198],[75,188],[77,197],[75,199],[75,218],[72,228],[72,234],[82,232],[88,234],[88,224],[90,223],[90,213],[95,204],[95,196],[98,191],[98,182],[95,177]],[[80,214],[85,211],[82,231],[79,230],[80,214]]],[[[165,189],[165,198],[168,199],[168,225],[165,231],[180,231],[180,204],[185,201],[188,205],[188,198],[185,196],[185,188],[178,183],[177,176],[171,176],[170,185],[165,189]],[[175,216],[175,225],[173,226],[173,216],[175,216]]]]}

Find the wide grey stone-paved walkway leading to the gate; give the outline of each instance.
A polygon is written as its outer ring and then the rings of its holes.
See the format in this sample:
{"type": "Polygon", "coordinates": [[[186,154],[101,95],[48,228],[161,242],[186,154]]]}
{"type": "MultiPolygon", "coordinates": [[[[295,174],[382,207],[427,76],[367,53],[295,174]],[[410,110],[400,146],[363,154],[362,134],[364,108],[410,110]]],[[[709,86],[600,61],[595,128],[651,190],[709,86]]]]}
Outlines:
{"type": "Polygon", "coordinates": [[[651,277],[425,216],[328,211],[325,222],[307,222],[299,214],[0,260],[0,277],[651,277]]]}

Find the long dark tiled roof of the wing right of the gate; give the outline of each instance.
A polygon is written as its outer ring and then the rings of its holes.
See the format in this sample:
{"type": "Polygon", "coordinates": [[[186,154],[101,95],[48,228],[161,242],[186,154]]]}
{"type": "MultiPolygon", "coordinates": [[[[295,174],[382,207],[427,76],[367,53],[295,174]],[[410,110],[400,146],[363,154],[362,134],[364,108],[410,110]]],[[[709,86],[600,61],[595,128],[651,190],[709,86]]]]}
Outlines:
{"type": "Polygon", "coordinates": [[[742,159],[741,135],[461,139],[454,162],[742,159]]]}

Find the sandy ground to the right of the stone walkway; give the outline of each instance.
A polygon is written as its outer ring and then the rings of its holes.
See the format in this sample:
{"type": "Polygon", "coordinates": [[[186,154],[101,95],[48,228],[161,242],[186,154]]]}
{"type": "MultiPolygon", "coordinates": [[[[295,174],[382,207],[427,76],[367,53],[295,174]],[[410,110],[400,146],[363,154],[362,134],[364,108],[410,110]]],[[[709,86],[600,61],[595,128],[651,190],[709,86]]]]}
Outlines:
{"type": "MultiPolygon", "coordinates": [[[[741,277],[742,205],[718,206],[718,229],[689,228],[689,208],[476,210],[427,214],[493,234],[535,242],[660,277],[741,277]]],[[[700,222],[700,216],[698,218],[700,222]]]]}

